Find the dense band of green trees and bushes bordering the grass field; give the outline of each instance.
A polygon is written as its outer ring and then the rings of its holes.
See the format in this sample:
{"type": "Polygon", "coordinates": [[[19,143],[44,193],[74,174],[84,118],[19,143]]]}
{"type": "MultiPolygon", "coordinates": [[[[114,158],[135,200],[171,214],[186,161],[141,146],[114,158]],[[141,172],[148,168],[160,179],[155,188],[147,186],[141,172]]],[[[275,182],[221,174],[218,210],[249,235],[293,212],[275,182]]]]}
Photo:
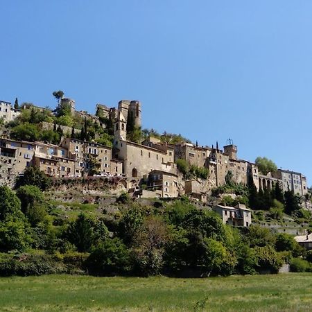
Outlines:
{"type": "Polygon", "coordinates": [[[284,262],[312,269],[311,254],[292,236],[223,225],[187,198],[142,206],[124,193],[119,212],[63,218],[40,189],[51,182],[28,171],[15,191],[0,188],[0,275],[245,275],[277,272],[284,262]]]}

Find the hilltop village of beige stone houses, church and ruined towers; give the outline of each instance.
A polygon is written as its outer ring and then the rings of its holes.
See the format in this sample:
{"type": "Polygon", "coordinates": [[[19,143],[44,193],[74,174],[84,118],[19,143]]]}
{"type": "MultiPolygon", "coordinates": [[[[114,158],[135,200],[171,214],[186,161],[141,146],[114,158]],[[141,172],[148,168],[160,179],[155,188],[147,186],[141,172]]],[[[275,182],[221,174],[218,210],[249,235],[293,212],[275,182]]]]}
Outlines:
{"type": "MultiPolygon", "coordinates": [[[[34,117],[35,118],[35,117],[34,117]]],[[[279,184],[283,191],[304,196],[307,192],[306,177],[295,171],[278,169],[263,175],[257,164],[237,157],[238,148],[231,139],[219,148],[198,146],[186,140],[171,142],[170,136],[148,133],[143,140],[133,139],[135,130],[141,129],[141,103],[123,100],[118,107],[97,104],[96,114],[75,109],[75,101],[59,96],[56,110],[24,103],[12,106],[0,101],[1,130],[1,184],[13,185],[27,166],[37,166],[51,177],[76,178],[85,176],[123,177],[123,187],[135,197],[176,198],[187,195],[202,202],[211,189],[225,184],[230,176],[236,184],[252,180],[259,189],[272,189],[279,184]],[[21,119],[23,114],[42,114],[42,130],[60,133],[58,144],[48,140],[17,140],[6,129],[7,125],[21,119]],[[83,128],[49,122],[59,112],[80,120],[83,128]],[[89,138],[87,124],[100,129],[89,138]],[[84,133],[83,133],[84,132],[84,133]],[[99,133],[99,135],[98,135],[99,133]],[[108,137],[101,140],[101,133],[108,137]],[[180,165],[180,166],[179,166],[180,165]],[[186,174],[183,166],[192,168],[186,174]]],[[[60,120],[62,120],[60,118],[60,120]]]]}

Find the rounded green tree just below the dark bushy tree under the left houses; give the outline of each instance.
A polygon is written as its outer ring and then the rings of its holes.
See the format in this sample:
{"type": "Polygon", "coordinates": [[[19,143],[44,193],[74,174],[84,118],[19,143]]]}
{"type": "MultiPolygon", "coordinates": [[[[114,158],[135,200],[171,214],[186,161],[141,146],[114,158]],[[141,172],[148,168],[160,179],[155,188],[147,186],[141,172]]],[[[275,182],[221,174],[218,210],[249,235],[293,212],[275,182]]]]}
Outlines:
{"type": "Polygon", "coordinates": [[[37,225],[46,216],[46,201],[42,191],[34,185],[24,185],[17,189],[17,197],[21,200],[21,211],[24,212],[31,225],[37,225]]]}

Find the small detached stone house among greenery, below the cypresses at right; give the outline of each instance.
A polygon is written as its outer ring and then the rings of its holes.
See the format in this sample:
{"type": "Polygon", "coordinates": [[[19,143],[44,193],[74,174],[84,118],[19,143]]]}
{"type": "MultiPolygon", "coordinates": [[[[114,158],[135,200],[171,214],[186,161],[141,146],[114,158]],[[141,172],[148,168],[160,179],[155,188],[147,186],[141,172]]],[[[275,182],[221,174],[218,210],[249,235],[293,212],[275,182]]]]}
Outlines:
{"type": "Polygon", "coordinates": [[[245,205],[238,204],[236,207],[216,205],[213,210],[220,215],[224,224],[249,227],[252,223],[251,211],[245,205]]]}

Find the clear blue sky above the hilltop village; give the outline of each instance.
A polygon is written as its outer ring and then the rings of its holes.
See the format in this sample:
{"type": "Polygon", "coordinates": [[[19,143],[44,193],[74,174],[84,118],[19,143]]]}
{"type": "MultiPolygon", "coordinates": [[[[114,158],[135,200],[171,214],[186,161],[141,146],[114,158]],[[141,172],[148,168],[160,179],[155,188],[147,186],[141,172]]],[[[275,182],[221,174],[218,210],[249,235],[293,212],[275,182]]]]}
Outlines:
{"type": "Polygon", "coordinates": [[[230,137],[312,184],[312,1],[0,0],[0,98],[142,103],[144,128],[230,137]]]}

